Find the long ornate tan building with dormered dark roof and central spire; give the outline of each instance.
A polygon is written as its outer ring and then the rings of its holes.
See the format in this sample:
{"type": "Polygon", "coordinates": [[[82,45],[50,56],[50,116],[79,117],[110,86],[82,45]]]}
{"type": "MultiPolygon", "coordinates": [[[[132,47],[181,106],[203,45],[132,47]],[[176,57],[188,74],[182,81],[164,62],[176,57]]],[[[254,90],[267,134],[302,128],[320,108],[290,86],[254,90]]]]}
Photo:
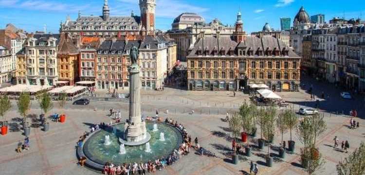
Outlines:
{"type": "Polygon", "coordinates": [[[203,35],[187,56],[188,90],[239,90],[266,84],[273,90],[298,91],[300,61],[280,39],[246,36],[238,13],[231,36],[203,35]]]}

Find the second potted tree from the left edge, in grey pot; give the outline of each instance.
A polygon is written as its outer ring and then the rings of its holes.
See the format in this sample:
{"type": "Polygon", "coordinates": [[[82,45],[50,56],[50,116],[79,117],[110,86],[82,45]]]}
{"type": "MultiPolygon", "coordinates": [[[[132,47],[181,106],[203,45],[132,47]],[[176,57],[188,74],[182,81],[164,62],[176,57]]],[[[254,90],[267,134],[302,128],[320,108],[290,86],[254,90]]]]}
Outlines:
{"type": "Polygon", "coordinates": [[[31,105],[29,93],[22,92],[19,96],[17,105],[18,105],[18,112],[19,112],[20,116],[23,117],[24,135],[29,136],[30,127],[29,127],[29,123],[27,121],[28,111],[29,111],[29,108],[31,105]]]}

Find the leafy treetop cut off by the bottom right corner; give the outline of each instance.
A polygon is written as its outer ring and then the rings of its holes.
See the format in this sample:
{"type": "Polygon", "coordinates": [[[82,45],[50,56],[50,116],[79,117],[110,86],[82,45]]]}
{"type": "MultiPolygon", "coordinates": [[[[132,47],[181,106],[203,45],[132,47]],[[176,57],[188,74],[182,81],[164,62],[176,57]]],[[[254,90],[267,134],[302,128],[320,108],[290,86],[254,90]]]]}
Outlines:
{"type": "Polygon", "coordinates": [[[337,166],[338,175],[364,175],[365,174],[365,143],[361,142],[347,158],[340,161],[337,166]]]}

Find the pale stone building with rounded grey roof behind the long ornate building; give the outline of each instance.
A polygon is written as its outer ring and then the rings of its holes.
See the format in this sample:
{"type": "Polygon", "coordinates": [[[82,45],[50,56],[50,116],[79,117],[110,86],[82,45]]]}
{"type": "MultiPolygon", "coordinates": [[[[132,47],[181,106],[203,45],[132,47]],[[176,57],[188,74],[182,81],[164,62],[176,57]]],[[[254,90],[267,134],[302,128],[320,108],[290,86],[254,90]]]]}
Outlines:
{"type": "Polygon", "coordinates": [[[198,14],[183,13],[174,19],[172,30],[169,30],[167,34],[175,39],[177,59],[186,61],[189,50],[201,37],[202,32],[205,35],[216,35],[217,31],[220,32],[220,35],[232,35],[235,29],[223,25],[217,18],[206,24],[205,19],[198,14]]]}

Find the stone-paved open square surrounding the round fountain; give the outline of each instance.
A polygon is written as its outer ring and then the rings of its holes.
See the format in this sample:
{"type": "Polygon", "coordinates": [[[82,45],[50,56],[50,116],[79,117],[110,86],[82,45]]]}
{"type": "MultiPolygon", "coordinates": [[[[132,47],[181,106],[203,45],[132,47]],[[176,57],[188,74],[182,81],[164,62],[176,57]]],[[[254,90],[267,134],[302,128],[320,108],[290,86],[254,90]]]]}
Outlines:
{"type": "MultiPolygon", "coordinates": [[[[320,135],[317,147],[325,158],[326,164],[319,171],[319,175],[337,174],[335,165],[341,158],[347,157],[347,153],[333,149],[333,138],[338,136],[340,142],[348,140],[350,151],[356,149],[364,140],[365,128],[363,119],[355,119],[360,122],[360,128],[351,130],[348,128],[349,110],[355,108],[359,117],[364,117],[364,97],[356,96],[353,100],[341,99],[340,88],[326,85],[312,79],[304,79],[304,89],[300,92],[278,92],[296,110],[302,106],[314,107],[315,102],[310,100],[310,95],[305,92],[311,85],[315,94],[320,96],[325,92],[326,98],[320,100],[320,112],[325,115],[328,129],[320,135]],[[326,89],[326,90],[325,90],[326,89]]],[[[103,92],[97,92],[103,95],[103,92]]],[[[105,92],[104,92],[105,93],[105,92]]],[[[319,98],[319,97],[318,97],[319,98]]],[[[300,168],[299,150],[303,146],[293,131],[293,140],[296,141],[295,154],[287,154],[285,159],[274,158],[272,168],[265,166],[264,155],[267,147],[262,151],[253,150],[251,157],[239,156],[237,165],[231,163],[232,137],[228,130],[228,123],[221,119],[225,113],[237,111],[238,106],[248,101],[248,95],[237,93],[233,97],[232,92],[212,91],[184,91],[173,88],[165,88],[164,91],[142,91],[142,113],[145,116],[154,116],[156,109],[163,118],[172,118],[182,123],[191,137],[199,138],[200,145],[212,152],[212,156],[199,156],[191,151],[177,163],[166,167],[155,174],[158,175],[248,175],[250,161],[257,162],[259,175],[303,175],[300,168]],[[194,109],[194,114],[189,114],[194,109]],[[168,110],[168,113],[166,113],[168,110]]],[[[13,103],[12,110],[8,113],[8,120],[19,117],[17,107],[13,103]]],[[[40,127],[32,128],[30,135],[31,149],[17,153],[15,151],[18,140],[24,140],[21,130],[11,128],[14,132],[6,136],[0,136],[0,172],[1,175],[98,175],[88,168],[77,165],[75,145],[78,138],[90,131],[91,124],[109,123],[111,118],[107,115],[109,108],[122,111],[123,120],[128,118],[128,103],[125,102],[94,102],[90,105],[71,105],[68,103],[64,112],[67,115],[66,123],[51,122],[50,131],[43,132],[40,127]],[[96,110],[95,110],[96,109],[96,110]]],[[[31,114],[40,114],[37,102],[32,103],[31,114]]],[[[51,113],[61,113],[57,104],[51,113]]],[[[301,116],[298,116],[301,117],[301,116]]],[[[259,136],[259,133],[257,134],[259,136]]],[[[284,140],[289,140],[289,132],[284,135],[284,140]]],[[[279,146],[280,134],[275,135],[274,146],[279,146]]],[[[255,140],[258,138],[255,138],[255,140]]],[[[256,143],[250,139],[250,143],[256,143]]],[[[257,143],[256,143],[257,144],[257,143]]],[[[277,151],[271,150],[274,155],[277,151]]]]}

